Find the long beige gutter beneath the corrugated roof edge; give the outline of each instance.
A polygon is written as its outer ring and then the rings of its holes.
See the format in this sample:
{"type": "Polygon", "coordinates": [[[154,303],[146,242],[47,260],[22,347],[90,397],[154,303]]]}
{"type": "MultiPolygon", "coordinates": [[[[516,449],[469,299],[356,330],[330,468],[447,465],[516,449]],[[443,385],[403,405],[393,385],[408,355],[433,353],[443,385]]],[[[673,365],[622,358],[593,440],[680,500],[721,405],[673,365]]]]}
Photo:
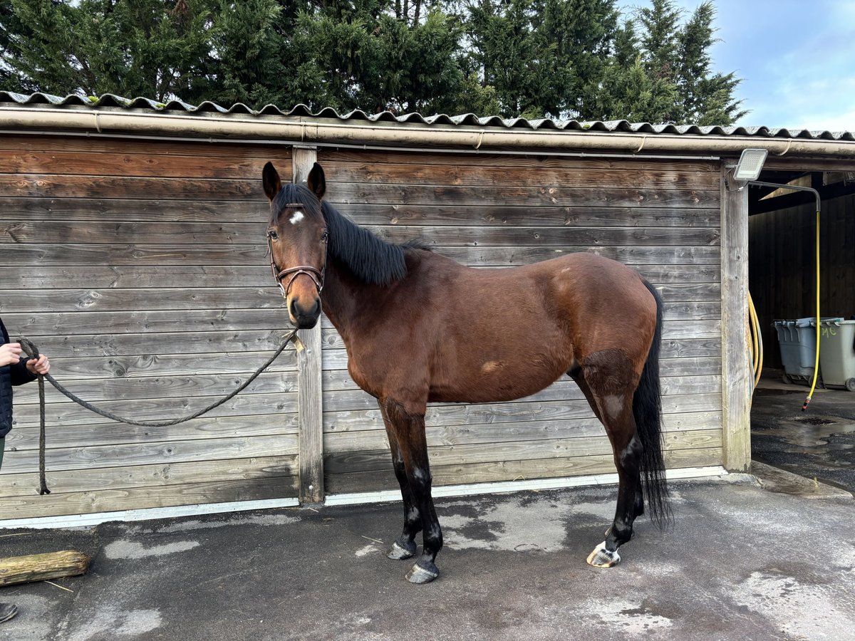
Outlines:
{"type": "Polygon", "coordinates": [[[298,144],[386,145],[448,150],[539,151],[612,150],[632,155],[650,153],[737,154],[746,147],[769,150],[773,156],[851,156],[855,141],[817,138],[758,138],[693,134],[531,130],[470,125],[411,123],[359,124],[300,116],[189,115],[139,113],[128,110],[62,109],[56,107],[0,108],[0,128],[12,131],[48,130],[135,133],[190,138],[251,138],[291,140],[298,144]]]}

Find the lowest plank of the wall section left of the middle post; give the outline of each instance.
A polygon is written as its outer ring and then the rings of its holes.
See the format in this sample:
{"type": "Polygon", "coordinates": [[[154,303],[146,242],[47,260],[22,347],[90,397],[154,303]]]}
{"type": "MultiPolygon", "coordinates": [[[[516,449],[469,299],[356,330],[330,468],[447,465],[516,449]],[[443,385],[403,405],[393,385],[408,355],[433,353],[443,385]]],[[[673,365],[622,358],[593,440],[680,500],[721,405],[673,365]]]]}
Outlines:
{"type": "Polygon", "coordinates": [[[154,485],[121,490],[51,493],[43,497],[11,497],[0,505],[0,520],[295,497],[296,481],[293,476],[268,476],[263,480],[226,480],[186,483],[174,487],[154,485]]]}

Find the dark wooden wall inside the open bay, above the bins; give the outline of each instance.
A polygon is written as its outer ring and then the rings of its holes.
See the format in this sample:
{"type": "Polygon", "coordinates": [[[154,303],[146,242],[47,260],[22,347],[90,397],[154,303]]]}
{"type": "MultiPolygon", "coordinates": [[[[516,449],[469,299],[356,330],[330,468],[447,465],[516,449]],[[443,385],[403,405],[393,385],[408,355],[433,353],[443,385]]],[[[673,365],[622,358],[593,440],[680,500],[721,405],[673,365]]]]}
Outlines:
{"type": "MultiPolygon", "coordinates": [[[[820,310],[855,315],[855,196],[823,201],[820,216],[820,310]]],[[[816,207],[813,203],[752,215],[749,283],[763,332],[764,363],[783,368],[776,319],[816,315],[816,207]]]]}

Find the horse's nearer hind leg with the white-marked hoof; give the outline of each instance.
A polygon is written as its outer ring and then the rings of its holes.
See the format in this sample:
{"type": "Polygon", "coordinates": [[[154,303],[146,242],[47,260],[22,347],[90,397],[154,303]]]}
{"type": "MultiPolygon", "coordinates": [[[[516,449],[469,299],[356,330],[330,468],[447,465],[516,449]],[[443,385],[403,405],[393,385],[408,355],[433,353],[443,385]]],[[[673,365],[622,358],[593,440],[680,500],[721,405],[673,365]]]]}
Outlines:
{"type": "Polygon", "coordinates": [[[642,447],[635,431],[633,395],[638,375],[622,350],[603,350],[587,356],[574,379],[605,427],[615,456],[618,476],[615,520],[587,558],[597,567],[611,567],[621,560],[617,548],[633,535],[635,517],[644,511],[641,498],[642,447]]]}

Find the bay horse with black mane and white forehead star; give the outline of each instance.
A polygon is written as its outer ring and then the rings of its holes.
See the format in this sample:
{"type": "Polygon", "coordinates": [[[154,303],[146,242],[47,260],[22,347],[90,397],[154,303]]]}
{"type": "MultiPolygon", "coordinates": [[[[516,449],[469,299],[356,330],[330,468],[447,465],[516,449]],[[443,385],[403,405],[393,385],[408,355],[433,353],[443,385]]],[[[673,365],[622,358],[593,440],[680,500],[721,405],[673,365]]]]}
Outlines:
{"type": "Polygon", "coordinates": [[[322,309],[345,343],[351,377],[380,406],[404,500],[404,530],[387,556],[416,556],[422,532],[411,583],[438,576],[442,547],[425,437],[431,402],[510,401],[567,373],[605,427],[619,479],[615,519],[587,562],[620,561],[617,549],[632,537],[645,496],[653,520],[669,520],[663,302],[638,273],[589,253],[469,268],[417,243],[387,243],[346,219],[323,200],[317,163],[306,185],[283,185],[268,162],[262,184],[270,267],[292,323],[313,327],[322,309]]]}

